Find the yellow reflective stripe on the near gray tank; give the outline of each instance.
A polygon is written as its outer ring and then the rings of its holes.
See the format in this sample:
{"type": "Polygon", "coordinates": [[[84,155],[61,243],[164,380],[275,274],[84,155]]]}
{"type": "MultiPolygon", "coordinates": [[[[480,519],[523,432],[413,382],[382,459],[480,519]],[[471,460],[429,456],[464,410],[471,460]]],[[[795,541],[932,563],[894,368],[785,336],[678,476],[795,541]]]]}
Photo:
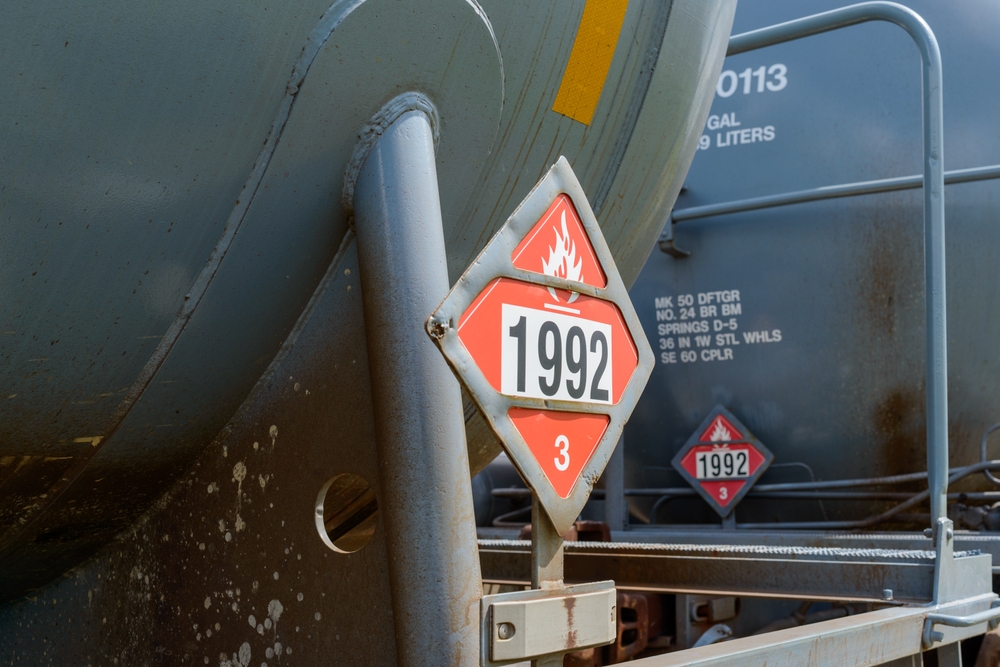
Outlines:
{"type": "Polygon", "coordinates": [[[587,0],[553,111],[590,125],[627,8],[628,0],[587,0]]]}

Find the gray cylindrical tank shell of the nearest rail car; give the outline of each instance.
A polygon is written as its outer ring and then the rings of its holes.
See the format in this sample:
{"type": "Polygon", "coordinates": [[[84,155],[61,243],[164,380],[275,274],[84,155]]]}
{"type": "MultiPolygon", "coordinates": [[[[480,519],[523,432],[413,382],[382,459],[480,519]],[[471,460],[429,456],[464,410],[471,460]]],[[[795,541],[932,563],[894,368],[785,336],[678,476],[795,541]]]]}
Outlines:
{"type": "MultiPolygon", "coordinates": [[[[735,3],[629,3],[589,126],[551,111],[584,4],[5,8],[3,598],[95,553],[222,432],[337,258],[344,168],[394,95],[416,86],[441,110],[451,279],[565,154],[631,283],[693,157],[735,3]],[[498,51],[503,96],[470,90],[498,80],[498,51]]],[[[475,469],[497,451],[482,426],[467,424],[475,469]]]]}

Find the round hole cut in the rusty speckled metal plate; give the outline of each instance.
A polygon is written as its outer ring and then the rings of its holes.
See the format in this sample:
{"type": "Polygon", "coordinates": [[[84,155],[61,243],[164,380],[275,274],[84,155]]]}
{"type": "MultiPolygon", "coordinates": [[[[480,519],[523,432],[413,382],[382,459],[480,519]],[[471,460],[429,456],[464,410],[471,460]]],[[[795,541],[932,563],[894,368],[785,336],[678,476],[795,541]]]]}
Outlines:
{"type": "Polygon", "coordinates": [[[364,477],[337,475],[316,498],[316,530],[334,551],[354,553],[371,540],[378,523],[375,490],[364,477]]]}

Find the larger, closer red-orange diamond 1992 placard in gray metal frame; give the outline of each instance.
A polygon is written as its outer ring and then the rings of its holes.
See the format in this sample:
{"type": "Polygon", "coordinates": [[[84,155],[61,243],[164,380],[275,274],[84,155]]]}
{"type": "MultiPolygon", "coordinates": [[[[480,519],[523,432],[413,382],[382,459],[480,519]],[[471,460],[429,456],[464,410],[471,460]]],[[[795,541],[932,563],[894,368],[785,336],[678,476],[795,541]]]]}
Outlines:
{"type": "Polygon", "coordinates": [[[466,270],[427,330],[564,534],[653,366],[565,158],[466,270]]]}

